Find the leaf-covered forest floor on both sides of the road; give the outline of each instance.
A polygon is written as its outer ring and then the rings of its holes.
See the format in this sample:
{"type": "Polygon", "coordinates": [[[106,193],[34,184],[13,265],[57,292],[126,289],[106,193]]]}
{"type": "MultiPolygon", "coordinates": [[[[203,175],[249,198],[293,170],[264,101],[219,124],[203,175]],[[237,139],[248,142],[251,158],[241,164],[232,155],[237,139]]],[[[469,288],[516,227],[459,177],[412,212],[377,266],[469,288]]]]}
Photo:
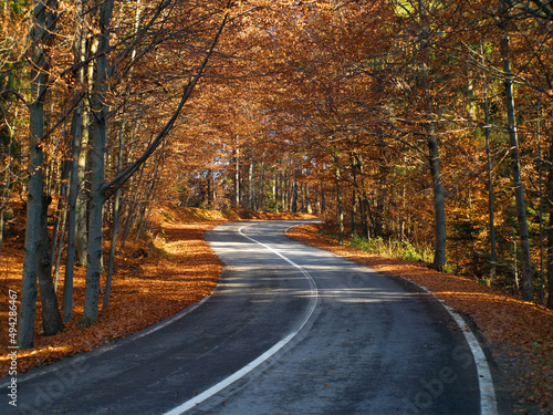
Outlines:
{"type": "MultiPolygon", "coordinates": [[[[25,372],[88,351],[161,321],[209,295],[222,264],[202,239],[204,234],[229,220],[291,219],[292,215],[221,214],[215,210],[163,209],[149,240],[128,240],[116,256],[109,307],[96,323],[80,326],[83,314],[84,268],[75,273],[75,319],[54,336],[41,333],[40,301],[34,347],[18,353],[18,371],[25,372]]],[[[21,230],[21,229],[20,229],[21,230]]],[[[298,240],[331,250],[392,278],[427,287],[438,299],[469,315],[490,346],[503,373],[518,414],[552,414],[553,311],[523,302],[473,280],[440,273],[425,263],[376,257],[337,247],[320,232],[320,225],[293,228],[298,240]]],[[[107,239],[107,238],[106,238],[107,239]]],[[[8,373],[8,292],[20,291],[23,234],[4,240],[0,258],[0,377],[8,373]]],[[[63,287],[63,269],[60,287],[63,287]]],[[[103,286],[102,286],[103,287],[103,286]]],[[[62,290],[60,290],[62,291],[62,290]]]]}

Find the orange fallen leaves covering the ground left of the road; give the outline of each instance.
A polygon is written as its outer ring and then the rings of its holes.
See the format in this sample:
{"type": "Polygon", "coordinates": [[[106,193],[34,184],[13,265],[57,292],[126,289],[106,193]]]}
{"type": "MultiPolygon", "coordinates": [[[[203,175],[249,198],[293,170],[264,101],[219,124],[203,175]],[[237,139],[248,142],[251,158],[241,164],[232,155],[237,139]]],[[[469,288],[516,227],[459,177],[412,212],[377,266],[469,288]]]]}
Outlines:
{"type": "MultiPolygon", "coordinates": [[[[149,247],[146,242],[127,242],[128,248],[117,257],[109,307],[101,312],[96,323],[84,330],[77,324],[83,313],[84,269],[77,268],[75,319],[65,324],[62,333],[46,338],[41,334],[39,303],[34,347],[19,351],[19,372],[124,338],[209,295],[218,283],[222,264],[204,241],[202,235],[217,224],[165,224],[165,242],[157,240],[155,247],[149,247]],[[136,251],[148,253],[131,255],[136,251]],[[169,255],[161,255],[164,251],[169,255]]],[[[0,297],[1,303],[6,304],[8,289],[20,292],[22,250],[18,247],[7,248],[2,252],[3,260],[7,261],[7,271],[0,281],[0,297]]],[[[63,287],[63,279],[60,287],[63,287]]],[[[0,320],[7,321],[7,309],[3,305],[0,320]]],[[[9,361],[4,352],[7,341],[8,338],[2,335],[0,376],[8,373],[9,361]]]]}

